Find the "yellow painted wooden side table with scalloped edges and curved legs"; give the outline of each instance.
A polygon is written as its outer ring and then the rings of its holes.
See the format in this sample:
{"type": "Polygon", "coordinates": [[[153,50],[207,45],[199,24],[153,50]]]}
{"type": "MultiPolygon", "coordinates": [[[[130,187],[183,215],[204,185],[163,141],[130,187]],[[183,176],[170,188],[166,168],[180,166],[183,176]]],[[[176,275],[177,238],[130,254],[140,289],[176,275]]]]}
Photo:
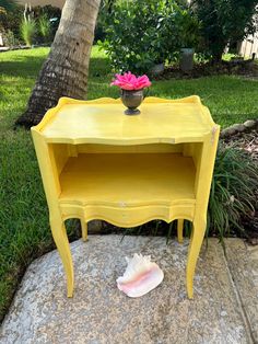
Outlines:
{"type": "Polygon", "coordinates": [[[124,114],[120,100],[60,99],[32,135],[49,207],[52,237],[73,294],[73,265],[64,228],[68,218],[103,219],[132,227],[162,219],[194,222],[187,293],[207,223],[220,127],[196,95],[181,100],[146,98],[141,114],[124,114]]]}

